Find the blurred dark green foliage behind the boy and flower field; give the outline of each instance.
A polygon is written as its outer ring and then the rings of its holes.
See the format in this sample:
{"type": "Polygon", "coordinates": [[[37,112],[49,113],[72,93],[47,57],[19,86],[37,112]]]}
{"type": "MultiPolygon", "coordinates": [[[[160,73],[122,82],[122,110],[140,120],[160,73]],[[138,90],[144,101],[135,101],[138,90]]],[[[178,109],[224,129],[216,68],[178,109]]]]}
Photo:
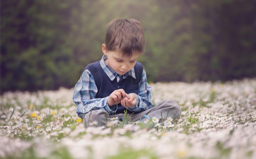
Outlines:
{"type": "Polygon", "coordinates": [[[107,24],[140,20],[148,81],[255,77],[255,0],[1,1],[1,92],[74,87],[107,24]]]}

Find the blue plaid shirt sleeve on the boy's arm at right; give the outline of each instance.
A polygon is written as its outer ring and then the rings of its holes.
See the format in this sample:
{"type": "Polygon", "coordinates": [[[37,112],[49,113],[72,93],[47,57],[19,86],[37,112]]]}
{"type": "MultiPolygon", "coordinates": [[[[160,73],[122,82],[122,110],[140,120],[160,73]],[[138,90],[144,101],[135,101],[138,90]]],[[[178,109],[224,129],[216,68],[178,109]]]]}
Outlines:
{"type": "Polygon", "coordinates": [[[152,88],[147,83],[147,76],[146,76],[145,69],[143,69],[142,78],[140,80],[139,87],[140,87],[139,93],[135,94],[137,98],[137,104],[135,105],[135,107],[128,108],[128,110],[134,113],[139,113],[154,107],[154,104],[151,100],[152,88]]]}

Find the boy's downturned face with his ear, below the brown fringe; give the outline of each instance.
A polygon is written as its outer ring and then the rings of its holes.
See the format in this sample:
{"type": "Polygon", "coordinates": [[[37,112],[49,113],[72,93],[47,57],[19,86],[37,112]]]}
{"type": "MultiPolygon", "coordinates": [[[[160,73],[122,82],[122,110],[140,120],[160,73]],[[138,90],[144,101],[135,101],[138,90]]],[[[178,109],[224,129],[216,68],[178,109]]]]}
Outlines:
{"type": "Polygon", "coordinates": [[[106,64],[119,75],[124,75],[130,71],[136,64],[139,58],[139,54],[132,54],[131,58],[122,57],[122,53],[118,51],[107,51],[103,48],[105,44],[102,44],[102,51],[108,57],[105,61],[106,64]]]}

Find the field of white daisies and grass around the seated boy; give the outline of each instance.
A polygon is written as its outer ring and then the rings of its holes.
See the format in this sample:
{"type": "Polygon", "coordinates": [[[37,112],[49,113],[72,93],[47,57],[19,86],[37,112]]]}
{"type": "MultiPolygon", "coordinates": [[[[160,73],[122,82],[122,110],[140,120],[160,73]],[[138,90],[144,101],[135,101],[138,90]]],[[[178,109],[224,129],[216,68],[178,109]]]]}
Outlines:
{"type": "Polygon", "coordinates": [[[150,130],[115,126],[115,120],[85,128],[73,89],[6,92],[0,96],[0,158],[256,158],[256,79],[150,86],[155,104],[180,104],[178,121],[150,130]]]}

